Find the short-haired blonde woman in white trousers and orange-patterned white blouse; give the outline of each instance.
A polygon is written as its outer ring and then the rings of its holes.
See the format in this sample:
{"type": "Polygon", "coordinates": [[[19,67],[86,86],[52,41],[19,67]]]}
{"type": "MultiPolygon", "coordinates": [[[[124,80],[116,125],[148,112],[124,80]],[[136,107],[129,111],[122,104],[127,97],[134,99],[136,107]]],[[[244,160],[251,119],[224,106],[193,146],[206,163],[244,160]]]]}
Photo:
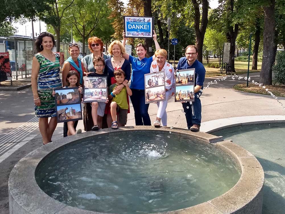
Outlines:
{"type": "Polygon", "coordinates": [[[167,126],[167,114],[166,107],[167,102],[174,95],[175,78],[174,78],[174,68],[171,64],[166,62],[167,51],[164,49],[158,49],[154,53],[156,60],[152,61],[150,66],[150,73],[155,73],[159,71],[164,71],[165,74],[165,101],[157,102],[158,110],[156,115],[156,121],[154,121],[154,126],[159,127],[167,126]]]}

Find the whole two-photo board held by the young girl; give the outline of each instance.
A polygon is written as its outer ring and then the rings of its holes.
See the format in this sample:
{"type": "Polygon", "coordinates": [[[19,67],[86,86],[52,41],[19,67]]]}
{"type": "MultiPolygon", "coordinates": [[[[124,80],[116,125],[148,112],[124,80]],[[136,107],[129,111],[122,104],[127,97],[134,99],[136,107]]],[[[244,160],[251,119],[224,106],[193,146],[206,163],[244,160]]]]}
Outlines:
{"type": "Polygon", "coordinates": [[[57,122],[82,120],[81,96],[78,88],[58,88],[54,91],[57,122]]]}

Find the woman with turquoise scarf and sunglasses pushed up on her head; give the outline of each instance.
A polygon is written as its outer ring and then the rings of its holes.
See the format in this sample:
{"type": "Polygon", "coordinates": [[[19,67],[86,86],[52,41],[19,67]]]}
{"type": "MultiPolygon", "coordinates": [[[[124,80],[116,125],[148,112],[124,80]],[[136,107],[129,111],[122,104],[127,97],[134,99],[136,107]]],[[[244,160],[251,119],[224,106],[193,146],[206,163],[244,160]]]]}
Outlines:
{"type": "MultiPolygon", "coordinates": [[[[86,76],[85,68],[81,60],[78,58],[79,56],[79,47],[77,44],[70,44],[68,48],[70,57],[64,61],[62,68],[62,86],[66,86],[66,76],[70,70],[75,70],[78,72],[78,76],[80,76],[80,85],[83,84],[83,76],[86,76]]],[[[76,130],[76,126],[78,124],[78,120],[74,123],[74,129],[76,130]]],[[[63,125],[63,136],[67,137],[67,123],[65,122],[63,125]]]]}

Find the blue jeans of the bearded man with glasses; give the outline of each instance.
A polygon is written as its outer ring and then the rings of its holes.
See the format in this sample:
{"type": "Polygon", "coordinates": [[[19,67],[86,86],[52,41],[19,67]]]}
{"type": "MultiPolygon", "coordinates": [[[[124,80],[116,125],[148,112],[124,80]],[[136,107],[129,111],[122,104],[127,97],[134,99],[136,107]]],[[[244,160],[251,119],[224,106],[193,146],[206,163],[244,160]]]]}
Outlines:
{"type": "MultiPolygon", "coordinates": [[[[203,86],[202,86],[202,89],[203,89],[203,86]]],[[[201,125],[201,119],[202,119],[202,116],[201,116],[202,106],[201,106],[201,100],[200,100],[201,95],[202,95],[202,92],[198,91],[197,93],[195,93],[195,102],[192,102],[192,104],[190,104],[190,102],[182,103],[188,129],[190,129],[190,127],[193,126],[193,124],[198,124],[199,126],[201,125]],[[198,98],[197,95],[199,93],[200,95],[198,98]],[[192,109],[193,109],[193,114],[192,114],[192,109]]]]}

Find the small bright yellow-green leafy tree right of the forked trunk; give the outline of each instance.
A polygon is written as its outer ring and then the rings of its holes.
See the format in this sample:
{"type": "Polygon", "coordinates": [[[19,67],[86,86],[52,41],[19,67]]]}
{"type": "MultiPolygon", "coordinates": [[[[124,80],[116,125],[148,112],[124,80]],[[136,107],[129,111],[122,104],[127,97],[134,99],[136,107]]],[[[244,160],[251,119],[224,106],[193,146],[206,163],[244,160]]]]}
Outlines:
{"type": "Polygon", "coordinates": [[[221,66],[221,55],[226,41],[227,38],[223,33],[207,28],[204,44],[209,51],[213,51],[213,53],[217,54],[219,66],[221,66]]]}

